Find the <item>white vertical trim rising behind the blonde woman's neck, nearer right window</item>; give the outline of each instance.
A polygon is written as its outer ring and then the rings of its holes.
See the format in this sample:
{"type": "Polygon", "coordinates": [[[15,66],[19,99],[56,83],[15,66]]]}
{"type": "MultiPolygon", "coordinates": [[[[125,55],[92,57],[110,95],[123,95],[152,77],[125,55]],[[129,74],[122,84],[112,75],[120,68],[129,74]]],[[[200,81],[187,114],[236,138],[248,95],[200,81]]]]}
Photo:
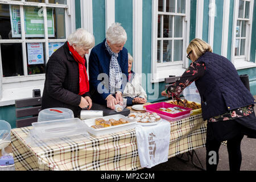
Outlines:
{"type": "Polygon", "coordinates": [[[209,2],[209,31],[208,31],[208,44],[213,49],[213,39],[214,39],[214,19],[216,16],[216,3],[215,0],[210,0],[209,2]]]}

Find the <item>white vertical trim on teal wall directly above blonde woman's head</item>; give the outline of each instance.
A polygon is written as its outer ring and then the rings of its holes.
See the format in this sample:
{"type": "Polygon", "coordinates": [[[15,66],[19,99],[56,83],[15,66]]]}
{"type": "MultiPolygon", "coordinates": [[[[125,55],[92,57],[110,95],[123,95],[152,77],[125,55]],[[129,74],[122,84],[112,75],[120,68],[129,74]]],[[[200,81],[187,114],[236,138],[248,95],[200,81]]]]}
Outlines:
{"type": "Polygon", "coordinates": [[[203,18],[204,18],[204,3],[201,0],[196,1],[196,38],[203,37],[203,18]]]}

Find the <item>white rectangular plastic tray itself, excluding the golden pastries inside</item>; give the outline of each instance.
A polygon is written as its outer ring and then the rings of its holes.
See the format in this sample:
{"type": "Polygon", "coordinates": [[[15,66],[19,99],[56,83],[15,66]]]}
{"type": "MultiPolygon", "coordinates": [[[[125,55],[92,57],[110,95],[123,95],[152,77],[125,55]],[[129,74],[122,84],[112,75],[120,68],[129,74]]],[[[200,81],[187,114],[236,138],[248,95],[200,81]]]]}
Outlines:
{"type": "Polygon", "coordinates": [[[85,119],[85,125],[87,127],[87,131],[90,134],[93,134],[95,136],[101,136],[101,135],[108,135],[112,133],[117,133],[119,131],[125,131],[125,130],[130,130],[134,129],[137,121],[134,121],[133,119],[129,119],[121,114],[115,114],[115,115],[109,115],[106,117],[101,117],[102,119],[109,120],[109,119],[115,119],[118,120],[120,118],[125,119],[126,121],[129,121],[129,123],[125,123],[122,125],[117,125],[117,126],[109,126],[109,127],[104,127],[102,129],[94,129],[93,127],[90,127],[92,125],[95,125],[95,119],[85,119]]]}

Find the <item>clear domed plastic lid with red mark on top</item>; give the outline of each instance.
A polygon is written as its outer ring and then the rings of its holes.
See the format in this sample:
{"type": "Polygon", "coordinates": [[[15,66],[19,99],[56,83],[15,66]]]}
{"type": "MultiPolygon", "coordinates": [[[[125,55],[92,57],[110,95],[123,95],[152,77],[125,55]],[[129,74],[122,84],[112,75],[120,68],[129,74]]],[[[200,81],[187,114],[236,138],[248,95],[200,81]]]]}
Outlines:
{"type": "Polygon", "coordinates": [[[73,111],[63,107],[44,109],[38,114],[38,122],[69,118],[74,118],[73,111]]]}

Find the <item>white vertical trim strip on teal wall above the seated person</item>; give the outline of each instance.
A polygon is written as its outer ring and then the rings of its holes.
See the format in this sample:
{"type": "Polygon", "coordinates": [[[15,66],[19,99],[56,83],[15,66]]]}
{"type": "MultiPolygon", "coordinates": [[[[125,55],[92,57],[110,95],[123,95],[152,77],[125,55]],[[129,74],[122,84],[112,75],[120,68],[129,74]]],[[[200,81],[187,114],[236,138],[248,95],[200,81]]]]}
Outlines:
{"type": "MultiPolygon", "coordinates": [[[[142,73],[142,1],[133,0],[133,59],[135,73],[142,73]]],[[[141,81],[141,80],[140,80],[141,81]]]]}

